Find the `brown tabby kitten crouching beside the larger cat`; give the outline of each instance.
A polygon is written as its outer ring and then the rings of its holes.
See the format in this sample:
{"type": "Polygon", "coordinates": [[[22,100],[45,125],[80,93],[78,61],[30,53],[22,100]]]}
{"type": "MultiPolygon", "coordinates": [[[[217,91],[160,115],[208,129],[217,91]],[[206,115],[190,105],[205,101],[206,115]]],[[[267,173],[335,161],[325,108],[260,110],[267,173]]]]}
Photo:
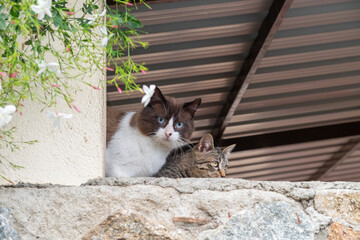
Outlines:
{"type": "Polygon", "coordinates": [[[225,177],[228,167],[228,156],[236,145],[223,150],[214,147],[214,140],[206,134],[200,143],[187,151],[183,156],[168,160],[154,177],[168,178],[216,178],[225,177]]]}

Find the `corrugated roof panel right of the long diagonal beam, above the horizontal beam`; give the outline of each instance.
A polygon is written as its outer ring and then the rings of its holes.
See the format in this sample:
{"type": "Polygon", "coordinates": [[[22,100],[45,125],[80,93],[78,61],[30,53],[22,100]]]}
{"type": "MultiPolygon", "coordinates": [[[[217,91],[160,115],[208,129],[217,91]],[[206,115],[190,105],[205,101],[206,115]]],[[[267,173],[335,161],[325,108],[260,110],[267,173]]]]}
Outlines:
{"type": "Polygon", "coordinates": [[[294,2],[224,137],[360,120],[360,2],[294,2]]]}

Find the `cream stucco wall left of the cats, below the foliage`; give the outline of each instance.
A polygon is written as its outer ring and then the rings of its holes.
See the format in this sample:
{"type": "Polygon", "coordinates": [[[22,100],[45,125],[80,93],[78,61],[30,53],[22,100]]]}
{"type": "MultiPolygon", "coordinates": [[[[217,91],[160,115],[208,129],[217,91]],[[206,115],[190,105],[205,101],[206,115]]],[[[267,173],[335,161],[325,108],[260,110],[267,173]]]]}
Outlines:
{"type": "MultiPolygon", "coordinates": [[[[76,0],[70,0],[69,6],[76,0]]],[[[83,0],[78,0],[81,6],[83,0]]],[[[76,73],[74,72],[74,75],[76,73]]],[[[90,76],[88,81],[97,86],[105,76],[99,72],[90,76]]],[[[71,86],[72,82],[69,81],[71,86]]],[[[90,178],[104,175],[105,159],[105,89],[94,90],[84,84],[82,91],[74,95],[74,105],[81,113],[69,108],[59,99],[58,113],[72,113],[73,118],[64,122],[61,129],[54,128],[46,116],[42,104],[25,101],[22,116],[15,113],[9,126],[16,126],[16,141],[38,140],[34,145],[20,144],[20,150],[10,152],[0,149],[1,153],[23,169],[14,169],[6,161],[0,164],[0,173],[13,182],[53,183],[79,185],[90,178]]],[[[7,126],[8,127],[8,126],[7,126]]],[[[0,179],[0,184],[8,184],[0,179]]]]}

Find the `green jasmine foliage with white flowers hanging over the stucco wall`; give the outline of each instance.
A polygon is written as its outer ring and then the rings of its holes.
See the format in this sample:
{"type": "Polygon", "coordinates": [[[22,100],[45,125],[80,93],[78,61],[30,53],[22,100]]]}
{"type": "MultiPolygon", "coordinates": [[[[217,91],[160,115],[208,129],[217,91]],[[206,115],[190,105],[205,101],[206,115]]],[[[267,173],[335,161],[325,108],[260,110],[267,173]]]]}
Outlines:
{"type": "MultiPolygon", "coordinates": [[[[74,90],[98,89],[87,82],[88,77],[99,70],[105,74],[109,68],[116,77],[108,83],[118,87],[121,81],[126,91],[139,90],[133,74],[146,67],[131,60],[130,49],[147,43],[139,40],[142,23],[131,14],[136,6],[118,0],[113,10],[104,1],[86,0],[76,8],[68,0],[53,0],[50,14],[42,18],[32,9],[38,4],[37,0],[0,0],[0,107],[14,105],[21,113],[25,99],[42,103],[44,109],[56,107],[61,99],[73,107],[74,90]],[[74,80],[84,88],[74,89],[74,80]]],[[[104,84],[99,81],[98,86],[104,84]]],[[[11,137],[15,129],[4,128],[0,148],[16,149],[11,137]]]]}

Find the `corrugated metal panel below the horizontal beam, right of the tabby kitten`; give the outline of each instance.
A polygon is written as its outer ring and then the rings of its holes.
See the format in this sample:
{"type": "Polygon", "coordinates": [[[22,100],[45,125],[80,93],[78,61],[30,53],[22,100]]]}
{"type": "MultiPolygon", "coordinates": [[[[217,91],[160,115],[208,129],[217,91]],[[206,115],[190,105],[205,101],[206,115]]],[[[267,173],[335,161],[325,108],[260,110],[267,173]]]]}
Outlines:
{"type": "Polygon", "coordinates": [[[306,181],[349,139],[336,138],[235,152],[230,155],[228,177],[306,181]]]}

